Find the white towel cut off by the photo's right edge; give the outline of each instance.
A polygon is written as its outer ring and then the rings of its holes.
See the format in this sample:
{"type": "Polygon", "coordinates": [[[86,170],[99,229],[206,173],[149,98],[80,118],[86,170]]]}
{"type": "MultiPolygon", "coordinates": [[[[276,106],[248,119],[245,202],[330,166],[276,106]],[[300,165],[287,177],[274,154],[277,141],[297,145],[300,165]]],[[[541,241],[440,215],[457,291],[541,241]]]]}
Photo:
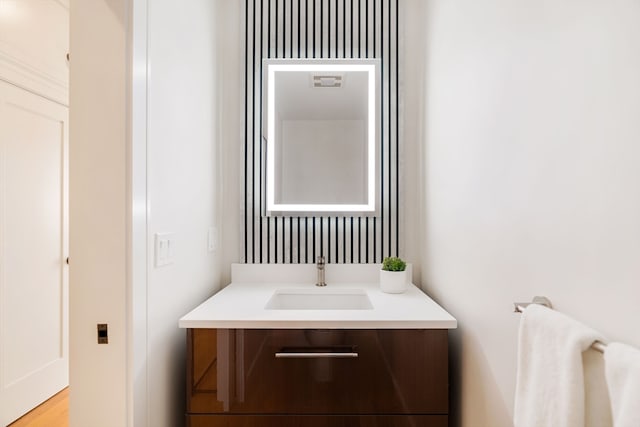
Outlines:
{"type": "Polygon", "coordinates": [[[604,352],[613,427],[640,427],[640,350],[611,343],[604,352]]]}

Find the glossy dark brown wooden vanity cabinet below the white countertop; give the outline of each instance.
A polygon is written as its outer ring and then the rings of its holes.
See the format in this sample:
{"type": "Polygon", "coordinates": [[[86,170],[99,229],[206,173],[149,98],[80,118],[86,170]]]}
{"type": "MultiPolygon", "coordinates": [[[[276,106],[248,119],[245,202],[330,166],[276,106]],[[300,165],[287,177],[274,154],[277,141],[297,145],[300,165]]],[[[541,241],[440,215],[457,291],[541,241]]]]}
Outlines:
{"type": "Polygon", "coordinates": [[[446,427],[446,329],[188,329],[187,426],[446,427]]]}

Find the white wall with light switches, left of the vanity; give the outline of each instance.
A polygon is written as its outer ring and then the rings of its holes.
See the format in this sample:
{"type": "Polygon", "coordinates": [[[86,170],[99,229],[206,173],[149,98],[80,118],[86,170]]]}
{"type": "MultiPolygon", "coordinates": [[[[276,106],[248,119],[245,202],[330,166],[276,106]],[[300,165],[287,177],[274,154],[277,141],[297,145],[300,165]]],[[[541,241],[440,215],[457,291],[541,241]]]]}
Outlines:
{"type": "MultiPolygon", "coordinates": [[[[148,252],[155,233],[175,233],[175,262],[148,259],[148,420],[184,422],[185,331],[178,319],[221,285],[221,253],[208,230],[225,226],[222,186],[223,58],[220,2],[148,1],[148,252]]],[[[218,238],[220,239],[220,237],[218,238]]]]}

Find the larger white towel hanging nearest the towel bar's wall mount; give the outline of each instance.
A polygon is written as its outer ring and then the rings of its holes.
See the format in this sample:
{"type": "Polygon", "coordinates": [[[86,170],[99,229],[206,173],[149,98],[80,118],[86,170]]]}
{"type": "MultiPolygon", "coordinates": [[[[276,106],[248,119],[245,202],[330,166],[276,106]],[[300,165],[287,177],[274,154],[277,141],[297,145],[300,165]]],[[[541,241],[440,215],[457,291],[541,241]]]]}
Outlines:
{"type": "Polygon", "coordinates": [[[522,313],[515,427],[584,427],[582,352],[600,335],[547,307],[522,313]]]}

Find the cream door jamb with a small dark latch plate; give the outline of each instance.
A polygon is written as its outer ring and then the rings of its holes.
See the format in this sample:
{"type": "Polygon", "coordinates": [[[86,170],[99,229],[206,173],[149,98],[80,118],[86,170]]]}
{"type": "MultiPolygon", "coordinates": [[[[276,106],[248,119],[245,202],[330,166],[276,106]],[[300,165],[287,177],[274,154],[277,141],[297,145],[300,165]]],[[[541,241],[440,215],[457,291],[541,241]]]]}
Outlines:
{"type": "Polygon", "coordinates": [[[126,425],[127,11],[72,1],[70,67],[70,425],[126,425]],[[109,325],[98,345],[96,324],[109,325]]]}

